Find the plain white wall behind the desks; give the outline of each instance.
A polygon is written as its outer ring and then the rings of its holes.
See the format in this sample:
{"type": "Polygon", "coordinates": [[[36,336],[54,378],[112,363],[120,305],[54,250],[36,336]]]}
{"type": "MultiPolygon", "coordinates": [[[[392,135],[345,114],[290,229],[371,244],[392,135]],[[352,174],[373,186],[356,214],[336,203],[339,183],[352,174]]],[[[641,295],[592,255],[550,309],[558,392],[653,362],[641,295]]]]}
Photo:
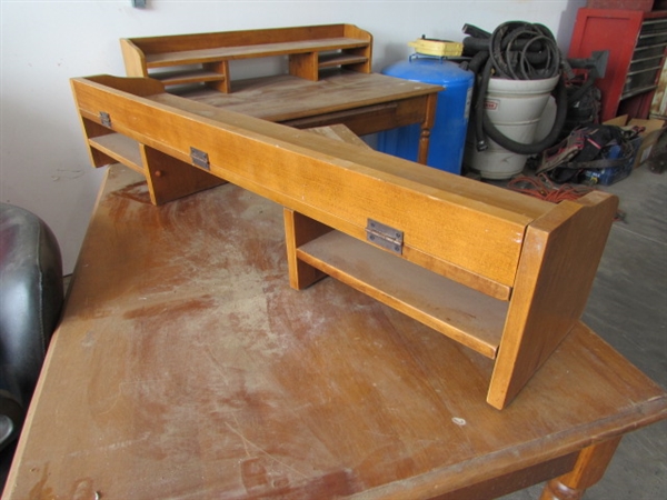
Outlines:
{"type": "MultiPolygon", "coordinates": [[[[283,1],[0,0],[0,200],[53,229],[71,272],[103,169],[88,162],[69,78],[123,74],[118,39],[347,22],[374,34],[374,68],[428,37],[460,41],[461,27],[488,31],[510,20],[541,22],[567,50],[585,0],[283,1]]],[[[100,256],[103,258],[103,256],[100,256]]]]}

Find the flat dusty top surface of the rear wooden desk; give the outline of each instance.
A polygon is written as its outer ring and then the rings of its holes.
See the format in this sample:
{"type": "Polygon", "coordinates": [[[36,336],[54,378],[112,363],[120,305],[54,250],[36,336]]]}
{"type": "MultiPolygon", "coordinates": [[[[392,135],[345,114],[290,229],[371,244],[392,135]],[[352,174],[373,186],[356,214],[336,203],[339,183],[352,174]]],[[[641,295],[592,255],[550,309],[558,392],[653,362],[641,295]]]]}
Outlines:
{"type": "Polygon", "coordinates": [[[379,73],[332,72],[318,81],[291,74],[235,80],[231,93],[212,89],[177,92],[209,106],[281,122],[428,96],[440,86],[379,73]]]}

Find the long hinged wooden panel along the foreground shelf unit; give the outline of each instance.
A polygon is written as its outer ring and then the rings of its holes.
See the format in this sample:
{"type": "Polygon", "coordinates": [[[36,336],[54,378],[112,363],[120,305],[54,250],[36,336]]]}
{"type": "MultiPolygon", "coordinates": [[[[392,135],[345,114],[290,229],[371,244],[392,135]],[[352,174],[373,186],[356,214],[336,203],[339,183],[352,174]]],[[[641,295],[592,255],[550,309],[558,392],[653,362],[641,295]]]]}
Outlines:
{"type": "Polygon", "coordinates": [[[325,153],[335,141],[251,117],[216,110],[212,120],[84,80],[74,86],[82,114],[107,108],[116,131],[181,161],[195,147],[213,174],[358,239],[372,217],[405,232],[404,258],[447,262],[461,270],[459,282],[515,281],[529,219],[409,180],[427,167],[339,142],[325,153]],[[374,168],[386,162],[400,162],[408,178],[374,168]]]}

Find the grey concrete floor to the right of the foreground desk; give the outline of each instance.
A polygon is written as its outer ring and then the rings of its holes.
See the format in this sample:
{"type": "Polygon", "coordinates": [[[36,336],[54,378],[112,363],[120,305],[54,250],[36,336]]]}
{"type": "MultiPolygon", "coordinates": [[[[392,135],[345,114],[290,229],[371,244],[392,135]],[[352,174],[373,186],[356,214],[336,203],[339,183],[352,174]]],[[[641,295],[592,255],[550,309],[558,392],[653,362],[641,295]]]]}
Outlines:
{"type": "MultiPolygon", "coordinates": [[[[601,189],[619,197],[626,220],[614,223],[584,321],[667,388],[667,172],[641,167],[601,189]]],[[[535,500],[541,488],[502,500],[535,500]]],[[[605,477],[584,498],[667,498],[667,421],[624,437],[605,477]]]]}

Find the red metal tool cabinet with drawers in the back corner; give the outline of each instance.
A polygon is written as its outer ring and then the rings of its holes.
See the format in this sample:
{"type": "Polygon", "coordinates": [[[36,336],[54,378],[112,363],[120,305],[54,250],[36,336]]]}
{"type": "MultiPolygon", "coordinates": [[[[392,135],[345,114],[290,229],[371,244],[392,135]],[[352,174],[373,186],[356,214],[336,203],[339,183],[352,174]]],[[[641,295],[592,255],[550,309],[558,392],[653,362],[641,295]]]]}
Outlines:
{"type": "Polygon", "coordinates": [[[646,118],[663,69],[667,48],[667,11],[579,9],[569,58],[589,58],[608,50],[601,120],[618,114],[646,118]]]}

